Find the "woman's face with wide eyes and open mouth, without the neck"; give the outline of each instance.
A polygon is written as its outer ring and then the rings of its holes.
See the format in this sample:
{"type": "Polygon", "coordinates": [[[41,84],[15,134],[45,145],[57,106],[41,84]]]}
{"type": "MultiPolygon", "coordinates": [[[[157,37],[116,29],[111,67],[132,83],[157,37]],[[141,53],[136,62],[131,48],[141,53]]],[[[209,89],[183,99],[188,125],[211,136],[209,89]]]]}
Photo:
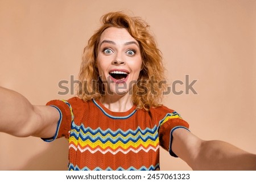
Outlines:
{"type": "Polygon", "coordinates": [[[125,28],[105,29],[98,44],[97,68],[107,95],[127,94],[142,68],[138,41],[125,28]]]}

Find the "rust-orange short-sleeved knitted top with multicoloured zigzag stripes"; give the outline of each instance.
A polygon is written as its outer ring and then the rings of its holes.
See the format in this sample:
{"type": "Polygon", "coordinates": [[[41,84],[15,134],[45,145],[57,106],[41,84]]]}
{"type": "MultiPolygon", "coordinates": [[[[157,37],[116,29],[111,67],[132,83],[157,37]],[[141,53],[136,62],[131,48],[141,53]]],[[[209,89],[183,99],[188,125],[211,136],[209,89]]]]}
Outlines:
{"type": "Polygon", "coordinates": [[[69,140],[68,170],[159,170],[159,146],[171,150],[171,133],[188,129],[179,114],[165,106],[112,112],[99,101],[52,100],[60,120],[53,138],[69,140]]]}

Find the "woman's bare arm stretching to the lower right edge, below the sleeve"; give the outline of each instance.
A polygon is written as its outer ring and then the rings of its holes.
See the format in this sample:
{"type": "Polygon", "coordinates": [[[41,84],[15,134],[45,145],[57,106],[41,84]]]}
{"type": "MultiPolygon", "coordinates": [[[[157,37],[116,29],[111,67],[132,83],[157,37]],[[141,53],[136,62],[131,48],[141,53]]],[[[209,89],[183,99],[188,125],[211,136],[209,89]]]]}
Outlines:
{"type": "Polygon", "coordinates": [[[172,151],[192,170],[256,170],[256,155],[230,143],[204,141],[182,128],[172,137],[172,151]]]}

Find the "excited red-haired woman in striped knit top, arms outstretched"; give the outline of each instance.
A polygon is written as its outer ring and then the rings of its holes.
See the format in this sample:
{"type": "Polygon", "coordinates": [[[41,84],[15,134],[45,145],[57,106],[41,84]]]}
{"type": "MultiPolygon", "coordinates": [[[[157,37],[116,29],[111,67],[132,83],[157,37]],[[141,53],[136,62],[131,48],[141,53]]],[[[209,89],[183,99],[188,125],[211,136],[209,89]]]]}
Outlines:
{"type": "Polygon", "coordinates": [[[102,23],[84,49],[78,97],[36,106],[1,88],[1,132],[68,138],[68,170],[159,170],[159,146],[193,170],[256,170],[255,154],[203,141],[160,104],[162,57],[146,22],[110,12],[102,23]]]}

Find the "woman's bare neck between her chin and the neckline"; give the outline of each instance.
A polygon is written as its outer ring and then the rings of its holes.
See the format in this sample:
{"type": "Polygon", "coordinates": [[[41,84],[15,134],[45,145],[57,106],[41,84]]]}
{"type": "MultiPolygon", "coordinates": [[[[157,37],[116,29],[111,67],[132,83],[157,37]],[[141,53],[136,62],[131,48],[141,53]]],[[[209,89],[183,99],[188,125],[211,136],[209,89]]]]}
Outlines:
{"type": "Polygon", "coordinates": [[[105,95],[102,97],[101,103],[113,112],[126,112],[134,105],[129,94],[122,96],[105,95]]]}

